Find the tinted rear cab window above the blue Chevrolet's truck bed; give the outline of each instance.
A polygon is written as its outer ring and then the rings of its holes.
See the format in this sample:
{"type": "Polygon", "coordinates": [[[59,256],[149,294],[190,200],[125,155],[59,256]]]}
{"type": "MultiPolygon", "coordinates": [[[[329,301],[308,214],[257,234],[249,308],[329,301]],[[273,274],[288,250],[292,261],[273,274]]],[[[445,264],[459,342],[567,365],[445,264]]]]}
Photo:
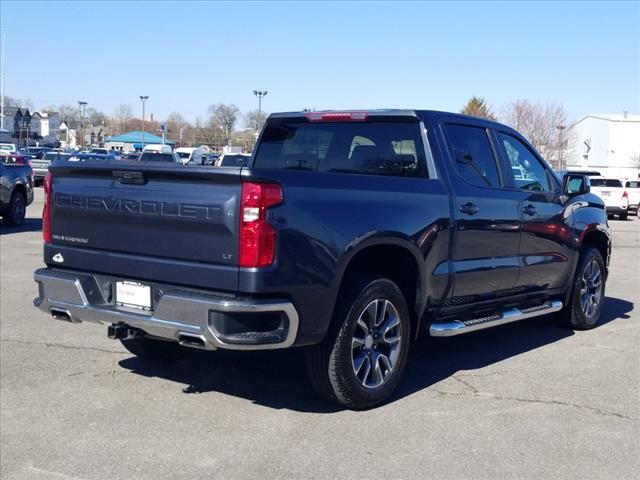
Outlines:
{"type": "Polygon", "coordinates": [[[311,122],[273,118],[254,168],[399,177],[427,177],[420,123],[414,117],[311,122]]]}

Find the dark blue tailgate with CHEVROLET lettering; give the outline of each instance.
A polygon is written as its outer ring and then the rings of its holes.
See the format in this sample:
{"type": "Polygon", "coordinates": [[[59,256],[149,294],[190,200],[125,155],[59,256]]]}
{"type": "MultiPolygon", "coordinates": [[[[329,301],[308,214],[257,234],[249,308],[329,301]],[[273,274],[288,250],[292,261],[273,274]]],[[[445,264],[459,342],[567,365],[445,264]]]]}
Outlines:
{"type": "Polygon", "coordinates": [[[112,161],[51,171],[49,249],[63,258],[53,265],[237,288],[239,168],[112,161]]]}

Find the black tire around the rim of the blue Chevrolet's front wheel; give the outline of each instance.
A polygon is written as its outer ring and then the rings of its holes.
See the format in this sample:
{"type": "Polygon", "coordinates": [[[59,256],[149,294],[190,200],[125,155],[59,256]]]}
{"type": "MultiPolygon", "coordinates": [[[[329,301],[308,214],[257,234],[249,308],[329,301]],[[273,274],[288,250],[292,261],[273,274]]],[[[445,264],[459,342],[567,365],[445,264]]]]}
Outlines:
{"type": "MultiPolygon", "coordinates": [[[[568,327],[574,330],[589,330],[596,326],[600,314],[602,312],[602,305],[604,304],[604,291],[606,270],[604,260],[600,252],[591,246],[587,246],[580,254],[578,261],[578,268],[576,268],[576,274],[571,286],[571,295],[569,297],[568,304],[560,311],[559,317],[568,327]],[[598,265],[600,271],[600,284],[601,290],[598,293],[598,304],[595,307],[593,313],[588,314],[583,307],[583,287],[585,287],[584,276],[585,271],[592,262],[598,265]]],[[[587,293],[585,293],[586,295],[587,293]]],[[[591,305],[591,304],[589,304],[591,305]]]]}

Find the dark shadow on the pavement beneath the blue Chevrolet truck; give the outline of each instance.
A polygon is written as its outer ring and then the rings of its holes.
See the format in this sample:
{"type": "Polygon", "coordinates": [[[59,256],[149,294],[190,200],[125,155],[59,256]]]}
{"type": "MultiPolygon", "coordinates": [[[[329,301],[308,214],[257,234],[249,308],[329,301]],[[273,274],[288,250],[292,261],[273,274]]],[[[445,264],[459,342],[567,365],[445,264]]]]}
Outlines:
{"type": "MultiPolygon", "coordinates": [[[[633,303],[606,298],[596,330],[629,319],[633,303]]],[[[596,334],[596,333],[594,333],[596,334]]],[[[532,318],[450,338],[422,335],[411,345],[405,375],[387,403],[434,385],[461,370],[476,370],[570,337],[574,333],[553,316],[532,318]]],[[[596,334],[597,335],[597,334],[596,334]]],[[[318,398],[307,379],[302,349],[206,352],[185,349],[172,365],[130,357],[120,366],[131,373],[186,385],[185,394],[219,392],[275,409],[334,413],[342,409],[318,398]]]]}

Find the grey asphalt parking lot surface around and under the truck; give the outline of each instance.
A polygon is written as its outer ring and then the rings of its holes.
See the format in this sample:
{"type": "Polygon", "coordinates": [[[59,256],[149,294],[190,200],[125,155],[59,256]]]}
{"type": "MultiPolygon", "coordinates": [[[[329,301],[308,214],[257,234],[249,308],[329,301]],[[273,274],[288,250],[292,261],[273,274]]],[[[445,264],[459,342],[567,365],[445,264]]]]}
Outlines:
{"type": "Polygon", "coordinates": [[[297,350],[186,350],[162,367],[106,327],[40,313],[41,199],[1,227],[3,479],[637,478],[637,218],[610,221],[598,328],[542,318],[424,337],[393,400],[350,412],[316,399],[297,350]]]}

